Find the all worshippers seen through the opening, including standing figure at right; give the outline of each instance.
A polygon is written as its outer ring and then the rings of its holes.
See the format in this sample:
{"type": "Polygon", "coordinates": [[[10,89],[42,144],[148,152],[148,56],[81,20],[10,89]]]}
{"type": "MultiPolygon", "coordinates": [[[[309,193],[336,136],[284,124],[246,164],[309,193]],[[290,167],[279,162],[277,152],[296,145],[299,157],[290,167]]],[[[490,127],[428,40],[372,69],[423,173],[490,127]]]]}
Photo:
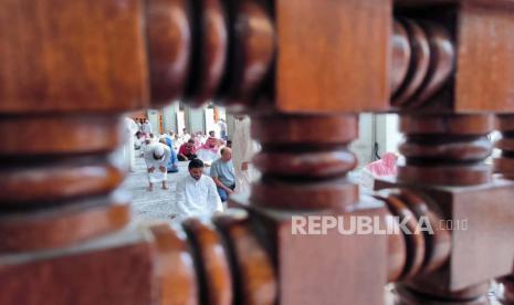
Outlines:
{"type": "Polygon", "coordinates": [[[180,136],[174,132],[155,136],[148,120],[126,119],[127,138],[124,148],[127,165],[135,169],[135,155],[144,157],[148,191],[155,183],[168,189],[169,172],[179,171],[179,162],[188,164],[188,175],[177,180],[176,207],[178,217],[210,215],[222,210],[222,202],[233,192],[246,192],[258,175],[249,167],[250,159],[259,149],[250,137],[250,118],[237,116],[232,141],[227,135],[227,125],[222,122],[220,137],[214,132],[209,135],[188,134],[182,129],[180,136]],[[132,148],[132,149],[130,149],[132,148]],[[132,154],[132,155],[130,155],[132,154]],[[235,166],[234,166],[235,165],[235,166]]]}

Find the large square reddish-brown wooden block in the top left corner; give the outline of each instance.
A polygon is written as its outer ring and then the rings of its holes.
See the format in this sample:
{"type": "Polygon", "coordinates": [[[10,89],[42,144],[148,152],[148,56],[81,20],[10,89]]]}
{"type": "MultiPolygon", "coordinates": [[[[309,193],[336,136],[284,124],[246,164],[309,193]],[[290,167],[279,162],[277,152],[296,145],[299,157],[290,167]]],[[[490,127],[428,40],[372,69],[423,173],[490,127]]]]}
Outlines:
{"type": "Polygon", "coordinates": [[[0,113],[114,112],[147,102],[140,1],[0,2],[0,113]]]}

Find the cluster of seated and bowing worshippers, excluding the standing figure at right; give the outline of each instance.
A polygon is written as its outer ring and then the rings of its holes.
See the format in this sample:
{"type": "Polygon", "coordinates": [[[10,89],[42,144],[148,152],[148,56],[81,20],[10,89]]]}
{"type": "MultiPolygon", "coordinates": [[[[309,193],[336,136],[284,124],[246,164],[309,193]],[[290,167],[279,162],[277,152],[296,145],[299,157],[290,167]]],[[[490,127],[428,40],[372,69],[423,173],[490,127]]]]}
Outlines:
{"type": "MultiPolygon", "coordinates": [[[[140,139],[143,135],[137,134],[136,137],[140,139]]],[[[136,140],[136,149],[140,143],[139,150],[143,151],[147,165],[148,190],[151,191],[154,183],[159,182],[162,183],[162,189],[168,189],[167,173],[177,172],[179,161],[189,161],[189,175],[177,183],[177,207],[180,214],[190,215],[200,206],[210,207],[208,210],[219,209],[235,188],[232,150],[228,146],[230,143],[217,138],[214,132],[210,132],[203,144],[197,136],[189,136],[176,152],[176,140],[172,132],[160,136],[158,141],[151,134],[144,141],[136,140]],[[203,175],[206,167],[210,168],[210,177],[203,175]]]]}

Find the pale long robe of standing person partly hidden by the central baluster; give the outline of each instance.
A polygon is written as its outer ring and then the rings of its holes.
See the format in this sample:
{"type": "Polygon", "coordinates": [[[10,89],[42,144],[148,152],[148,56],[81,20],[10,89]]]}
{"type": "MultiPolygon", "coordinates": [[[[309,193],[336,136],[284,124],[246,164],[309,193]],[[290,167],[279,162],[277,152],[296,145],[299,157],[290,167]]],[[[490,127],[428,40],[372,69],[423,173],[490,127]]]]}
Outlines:
{"type": "Polygon", "coordinates": [[[259,145],[250,135],[250,118],[235,119],[232,136],[232,158],[235,173],[235,192],[250,192],[250,185],[256,179],[258,171],[250,164],[253,155],[259,150],[259,145]],[[249,162],[248,169],[242,170],[243,162],[249,162]]]}

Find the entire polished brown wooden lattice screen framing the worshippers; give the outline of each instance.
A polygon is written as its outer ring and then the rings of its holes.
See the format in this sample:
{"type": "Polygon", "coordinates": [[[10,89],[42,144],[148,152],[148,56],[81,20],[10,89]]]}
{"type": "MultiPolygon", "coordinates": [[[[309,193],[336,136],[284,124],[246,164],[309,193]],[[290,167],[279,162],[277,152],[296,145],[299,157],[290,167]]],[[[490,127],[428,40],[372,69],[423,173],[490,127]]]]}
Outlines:
{"type": "Polygon", "coordinates": [[[513,3],[0,0],[0,304],[379,305],[388,283],[486,304],[493,278],[508,304],[513,3]],[[140,223],[123,117],[175,99],[249,114],[263,175],[239,210],[140,223]],[[347,177],[364,112],[406,136],[370,196],[347,177]],[[297,215],[436,230],[293,234],[297,215]]]}

